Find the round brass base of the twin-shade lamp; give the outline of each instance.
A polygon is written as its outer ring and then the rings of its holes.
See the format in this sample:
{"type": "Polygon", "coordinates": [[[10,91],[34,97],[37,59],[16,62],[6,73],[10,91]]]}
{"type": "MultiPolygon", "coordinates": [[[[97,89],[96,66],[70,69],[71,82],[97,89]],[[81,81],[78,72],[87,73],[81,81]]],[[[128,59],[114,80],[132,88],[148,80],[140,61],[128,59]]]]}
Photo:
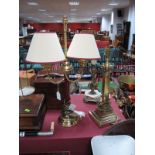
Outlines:
{"type": "Polygon", "coordinates": [[[65,115],[61,115],[58,119],[63,127],[71,127],[76,125],[80,120],[80,116],[71,110],[65,111],[65,115]]]}

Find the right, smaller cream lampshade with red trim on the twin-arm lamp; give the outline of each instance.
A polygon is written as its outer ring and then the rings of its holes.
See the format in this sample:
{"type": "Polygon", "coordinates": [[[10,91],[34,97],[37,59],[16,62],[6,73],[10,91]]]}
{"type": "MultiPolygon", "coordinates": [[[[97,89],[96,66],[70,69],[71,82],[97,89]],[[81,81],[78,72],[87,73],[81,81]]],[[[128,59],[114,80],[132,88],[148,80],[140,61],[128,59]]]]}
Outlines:
{"type": "Polygon", "coordinates": [[[67,52],[68,58],[100,59],[99,50],[93,34],[75,34],[67,52]]]}

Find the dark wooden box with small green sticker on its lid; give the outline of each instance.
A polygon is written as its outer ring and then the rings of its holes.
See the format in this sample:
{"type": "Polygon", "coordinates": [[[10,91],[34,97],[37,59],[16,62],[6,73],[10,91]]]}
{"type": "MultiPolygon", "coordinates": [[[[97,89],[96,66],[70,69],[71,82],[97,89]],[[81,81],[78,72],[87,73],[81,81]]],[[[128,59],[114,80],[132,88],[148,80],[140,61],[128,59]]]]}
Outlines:
{"type": "Polygon", "coordinates": [[[32,94],[19,98],[19,129],[40,130],[42,127],[46,104],[43,94],[32,94]]]}

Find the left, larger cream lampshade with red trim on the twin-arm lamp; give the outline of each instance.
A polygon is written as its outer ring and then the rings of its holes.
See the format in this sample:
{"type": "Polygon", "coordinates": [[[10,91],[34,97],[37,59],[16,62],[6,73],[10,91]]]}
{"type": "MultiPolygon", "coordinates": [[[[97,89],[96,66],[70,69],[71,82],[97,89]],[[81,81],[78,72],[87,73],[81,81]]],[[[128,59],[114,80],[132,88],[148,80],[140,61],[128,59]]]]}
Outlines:
{"type": "Polygon", "coordinates": [[[31,63],[55,63],[65,60],[56,33],[35,33],[26,57],[31,63]]]}

